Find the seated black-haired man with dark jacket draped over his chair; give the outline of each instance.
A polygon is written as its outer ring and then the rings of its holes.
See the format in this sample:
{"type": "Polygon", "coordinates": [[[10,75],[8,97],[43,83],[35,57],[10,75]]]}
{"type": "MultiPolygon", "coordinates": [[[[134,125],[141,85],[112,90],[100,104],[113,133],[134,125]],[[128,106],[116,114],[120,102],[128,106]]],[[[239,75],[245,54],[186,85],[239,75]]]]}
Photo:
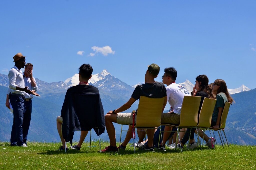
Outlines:
{"type": "MultiPolygon", "coordinates": [[[[88,84],[89,79],[91,79],[91,77],[92,77],[92,72],[93,72],[93,69],[90,64],[83,64],[79,68],[79,84],[76,86],[70,87],[67,90],[67,93],[65,96],[65,101],[62,106],[62,110],[63,110],[63,108],[65,108],[68,105],[68,101],[69,101],[68,94],[70,94],[70,93],[72,93],[72,94],[88,94],[88,93],[99,94],[99,90],[97,87],[94,87],[94,86],[88,84]]],[[[99,102],[102,106],[101,100],[99,100],[99,102]]],[[[103,108],[102,108],[102,112],[104,114],[103,108]]],[[[62,112],[61,112],[61,114],[62,114],[62,112]]],[[[63,138],[63,134],[61,134],[61,125],[63,123],[62,117],[63,117],[63,115],[57,117],[57,129],[58,129],[59,135],[61,136],[61,141],[63,144],[63,147],[61,147],[59,150],[65,150],[65,147],[67,148],[67,145],[65,145],[65,139],[63,138]]],[[[104,118],[104,116],[103,116],[103,118],[104,118]]],[[[88,134],[88,130],[81,130],[81,136],[80,136],[79,143],[77,145],[71,146],[71,149],[80,150],[87,134],[88,134]]],[[[68,148],[67,148],[67,150],[68,150],[68,148]]]]}

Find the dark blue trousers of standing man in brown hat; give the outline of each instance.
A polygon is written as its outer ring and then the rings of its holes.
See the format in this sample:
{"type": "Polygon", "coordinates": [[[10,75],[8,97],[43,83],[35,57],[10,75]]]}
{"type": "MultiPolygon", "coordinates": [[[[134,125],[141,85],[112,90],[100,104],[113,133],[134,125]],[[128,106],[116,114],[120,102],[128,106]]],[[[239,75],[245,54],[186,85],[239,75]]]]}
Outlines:
{"type": "Polygon", "coordinates": [[[10,102],[13,106],[13,127],[11,133],[11,145],[21,146],[25,142],[23,140],[23,112],[24,112],[24,97],[11,96],[10,102]]]}

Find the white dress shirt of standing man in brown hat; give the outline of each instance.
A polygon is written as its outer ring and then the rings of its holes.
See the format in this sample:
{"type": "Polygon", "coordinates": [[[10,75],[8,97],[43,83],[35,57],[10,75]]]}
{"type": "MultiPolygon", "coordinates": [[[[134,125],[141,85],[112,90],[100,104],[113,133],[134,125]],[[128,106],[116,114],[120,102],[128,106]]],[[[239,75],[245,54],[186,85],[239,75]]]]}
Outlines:
{"type": "Polygon", "coordinates": [[[12,89],[12,94],[20,94],[25,96],[25,91],[16,90],[16,87],[25,88],[23,73],[16,66],[9,71],[9,87],[12,89]]]}

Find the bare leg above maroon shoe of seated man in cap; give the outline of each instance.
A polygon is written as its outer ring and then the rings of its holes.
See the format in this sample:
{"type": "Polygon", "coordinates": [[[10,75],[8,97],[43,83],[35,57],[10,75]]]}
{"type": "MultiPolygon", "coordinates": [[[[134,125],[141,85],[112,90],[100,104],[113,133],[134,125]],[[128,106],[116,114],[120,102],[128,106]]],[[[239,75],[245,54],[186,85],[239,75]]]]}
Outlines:
{"type": "Polygon", "coordinates": [[[110,145],[116,147],[116,140],[115,140],[115,127],[113,125],[116,122],[116,114],[106,114],[105,115],[105,123],[106,129],[109,135],[110,145]]]}

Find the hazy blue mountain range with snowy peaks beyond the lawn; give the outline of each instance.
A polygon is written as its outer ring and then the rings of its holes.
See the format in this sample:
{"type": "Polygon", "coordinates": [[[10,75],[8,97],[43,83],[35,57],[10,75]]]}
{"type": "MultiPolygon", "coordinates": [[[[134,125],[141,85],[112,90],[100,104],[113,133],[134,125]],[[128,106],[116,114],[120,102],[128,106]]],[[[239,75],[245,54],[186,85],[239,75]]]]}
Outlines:
{"type": "MultiPolygon", "coordinates": [[[[41,97],[33,99],[32,120],[29,132],[29,139],[34,141],[59,141],[56,130],[56,117],[60,115],[60,110],[65,98],[66,91],[69,87],[79,84],[79,75],[68,78],[65,81],[48,83],[36,78],[39,86],[38,93],[41,97]]],[[[97,87],[100,91],[101,100],[104,111],[116,109],[129,100],[136,85],[130,86],[120,79],[114,77],[107,70],[101,73],[93,74],[89,83],[97,87]]],[[[186,80],[180,85],[192,91],[194,84],[186,80]]],[[[13,115],[7,107],[5,107],[6,91],[9,85],[8,76],[0,74],[0,141],[9,141],[10,129],[13,122],[13,115]]],[[[256,89],[250,90],[242,85],[237,89],[229,89],[232,97],[237,101],[231,106],[227,121],[227,135],[232,143],[239,144],[256,144],[256,101],[254,99],[256,89]],[[254,96],[253,96],[254,95],[254,96]],[[241,99],[242,98],[242,99],[241,99]],[[252,100],[250,108],[247,108],[247,98],[252,100]],[[254,101],[254,103],[253,103],[254,101]],[[240,113],[244,111],[243,113],[240,113]],[[243,119],[240,119],[243,114],[243,119]],[[238,134],[239,132],[239,134],[238,134]],[[251,135],[251,136],[250,136],[251,135]]],[[[131,112],[137,108],[136,101],[126,112],[131,112]]],[[[170,106],[166,106],[165,110],[169,110],[170,106]]],[[[120,134],[120,125],[115,124],[116,135],[120,134]]],[[[92,137],[97,139],[93,133],[92,137]]],[[[124,135],[125,137],[125,135],[124,135]]],[[[79,133],[75,134],[75,138],[79,139],[79,133]]],[[[101,138],[108,140],[107,133],[103,133],[101,138]]]]}

